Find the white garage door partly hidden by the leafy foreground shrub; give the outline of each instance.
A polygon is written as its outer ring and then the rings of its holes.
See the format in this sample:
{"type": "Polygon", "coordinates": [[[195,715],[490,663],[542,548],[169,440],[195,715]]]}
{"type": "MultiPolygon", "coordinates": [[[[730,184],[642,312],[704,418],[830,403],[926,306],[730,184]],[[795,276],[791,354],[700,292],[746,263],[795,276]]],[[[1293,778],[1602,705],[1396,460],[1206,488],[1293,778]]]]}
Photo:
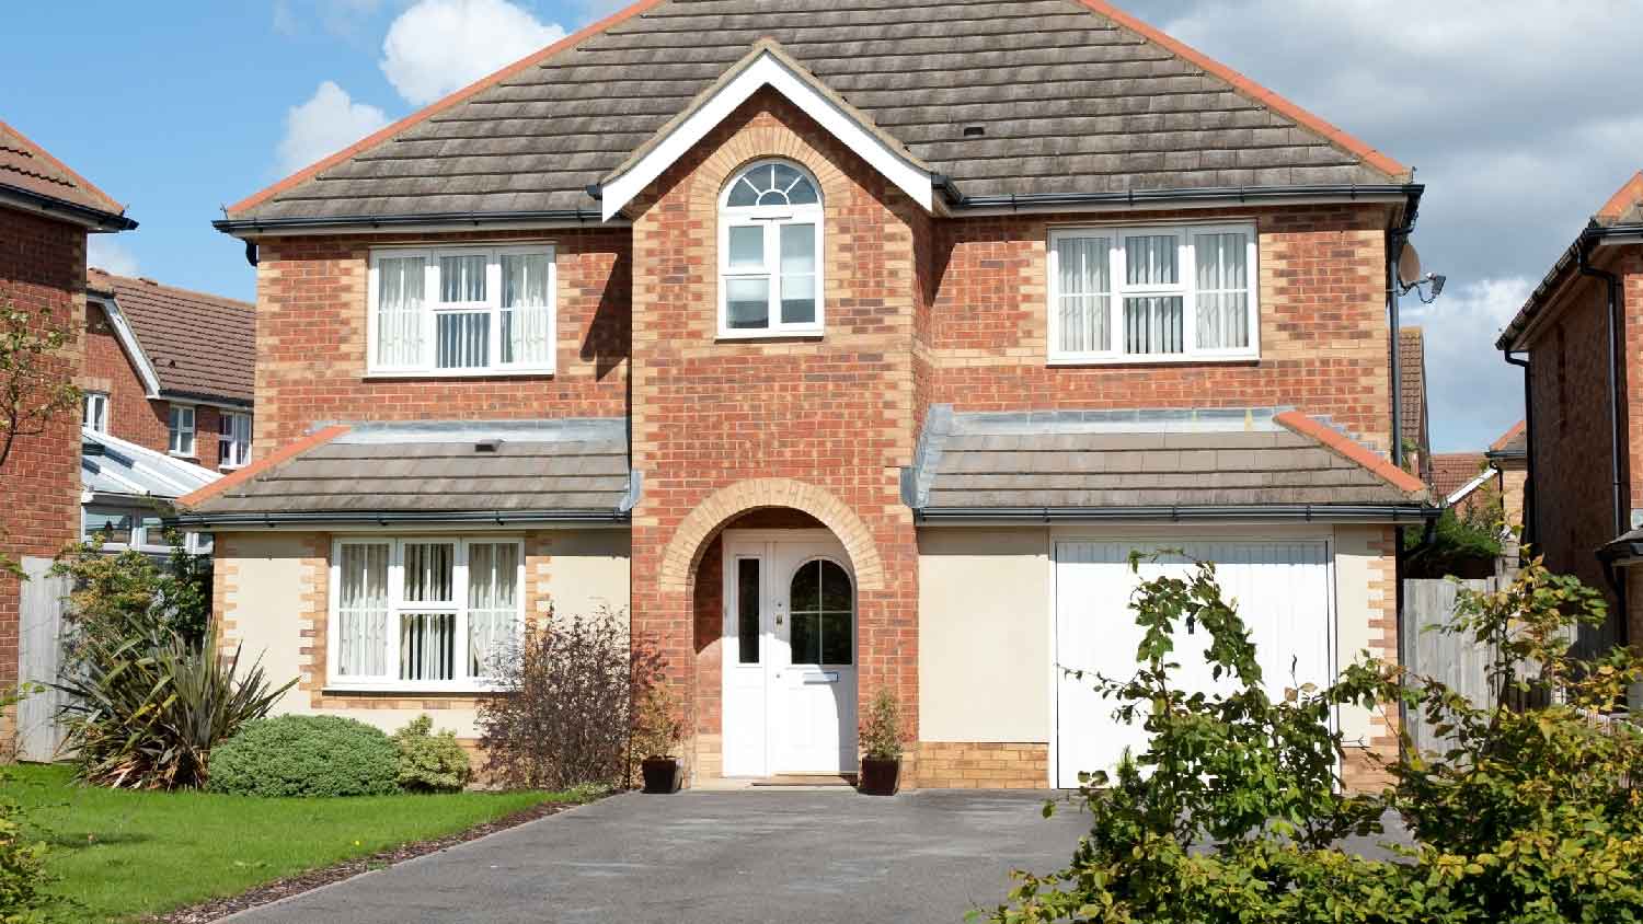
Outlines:
{"type": "MultiPolygon", "coordinates": [[[[1081,770],[1112,770],[1124,748],[1140,750],[1144,730],[1112,717],[1116,701],[1102,699],[1086,679],[1063,668],[1112,678],[1135,673],[1140,629],[1129,609],[1135,586],[1160,574],[1185,576],[1190,561],[1214,561],[1221,588],[1249,625],[1268,693],[1282,696],[1298,683],[1324,684],[1332,676],[1334,591],[1326,542],[1176,542],[1181,555],[1129,568],[1135,542],[1056,543],[1056,784],[1078,786],[1081,770]]],[[[1217,683],[1203,663],[1203,630],[1176,640],[1181,683],[1211,691],[1217,683]]],[[[1221,681],[1219,686],[1226,686],[1221,681]]]]}

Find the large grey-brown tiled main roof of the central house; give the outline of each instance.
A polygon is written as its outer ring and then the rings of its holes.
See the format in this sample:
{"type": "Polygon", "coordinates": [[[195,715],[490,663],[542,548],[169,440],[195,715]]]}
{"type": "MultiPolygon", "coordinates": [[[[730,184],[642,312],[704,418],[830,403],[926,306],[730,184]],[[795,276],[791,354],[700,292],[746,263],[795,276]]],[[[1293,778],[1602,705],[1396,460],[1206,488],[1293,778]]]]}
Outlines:
{"type": "Polygon", "coordinates": [[[219,226],[591,218],[588,187],[762,38],[976,200],[1410,177],[1101,0],[644,0],[230,207],[219,226]]]}

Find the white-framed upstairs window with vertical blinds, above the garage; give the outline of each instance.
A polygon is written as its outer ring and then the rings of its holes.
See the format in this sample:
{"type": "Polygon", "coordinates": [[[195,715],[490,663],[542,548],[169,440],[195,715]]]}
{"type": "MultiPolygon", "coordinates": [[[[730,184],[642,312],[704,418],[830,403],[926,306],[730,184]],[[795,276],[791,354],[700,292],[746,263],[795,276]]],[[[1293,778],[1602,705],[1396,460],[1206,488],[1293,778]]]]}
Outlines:
{"type": "Polygon", "coordinates": [[[1050,231],[1050,363],[1260,358],[1255,226],[1050,231]]]}

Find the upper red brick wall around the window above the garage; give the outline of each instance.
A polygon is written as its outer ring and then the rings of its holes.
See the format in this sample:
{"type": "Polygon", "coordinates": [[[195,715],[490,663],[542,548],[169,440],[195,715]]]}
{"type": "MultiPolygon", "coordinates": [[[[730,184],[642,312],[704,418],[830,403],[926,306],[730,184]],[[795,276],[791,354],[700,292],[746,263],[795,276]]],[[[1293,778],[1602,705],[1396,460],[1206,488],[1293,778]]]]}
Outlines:
{"type": "Polygon", "coordinates": [[[935,400],[958,410],[1296,405],[1390,448],[1383,205],[943,222],[935,400]],[[1048,366],[1053,225],[1254,220],[1260,361],[1048,366]]]}

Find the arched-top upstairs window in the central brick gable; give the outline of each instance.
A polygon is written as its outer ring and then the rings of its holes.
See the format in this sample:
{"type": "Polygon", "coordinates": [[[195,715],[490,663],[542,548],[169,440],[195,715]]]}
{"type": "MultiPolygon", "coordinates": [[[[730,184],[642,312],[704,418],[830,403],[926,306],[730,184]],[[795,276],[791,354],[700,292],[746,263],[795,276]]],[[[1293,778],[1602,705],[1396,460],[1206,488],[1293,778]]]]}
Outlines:
{"type": "Polygon", "coordinates": [[[795,164],[761,161],[725,187],[718,333],[822,333],[822,194],[795,164]]]}

